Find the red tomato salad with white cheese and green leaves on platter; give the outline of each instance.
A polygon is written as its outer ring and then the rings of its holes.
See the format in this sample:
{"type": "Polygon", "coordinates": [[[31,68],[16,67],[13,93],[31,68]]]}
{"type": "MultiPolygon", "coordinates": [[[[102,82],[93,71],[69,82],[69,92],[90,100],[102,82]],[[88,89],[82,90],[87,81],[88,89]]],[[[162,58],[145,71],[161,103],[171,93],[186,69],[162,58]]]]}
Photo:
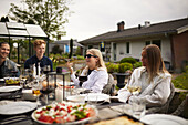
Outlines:
{"type": "Polygon", "coordinates": [[[51,104],[38,108],[32,114],[36,121],[49,124],[76,122],[95,115],[95,108],[91,105],[71,102],[51,104]]]}

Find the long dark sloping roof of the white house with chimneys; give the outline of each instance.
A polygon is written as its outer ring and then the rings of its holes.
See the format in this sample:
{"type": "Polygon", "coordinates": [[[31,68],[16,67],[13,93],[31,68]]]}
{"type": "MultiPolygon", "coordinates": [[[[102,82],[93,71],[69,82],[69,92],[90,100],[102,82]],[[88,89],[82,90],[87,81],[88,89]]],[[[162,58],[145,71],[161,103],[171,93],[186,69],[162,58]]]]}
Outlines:
{"type": "Polygon", "coordinates": [[[161,33],[180,33],[188,30],[188,18],[178,19],[167,22],[154,23],[149,27],[138,27],[124,29],[121,32],[111,31],[106,32],[83,41],[80,43],[94,43],[101,41],[112,41],[116,39],[126,39],[126,38],[136,38],[136,37],[144,37],[144,35],[152,35],[152,34],[161,34],[161,33]]]}

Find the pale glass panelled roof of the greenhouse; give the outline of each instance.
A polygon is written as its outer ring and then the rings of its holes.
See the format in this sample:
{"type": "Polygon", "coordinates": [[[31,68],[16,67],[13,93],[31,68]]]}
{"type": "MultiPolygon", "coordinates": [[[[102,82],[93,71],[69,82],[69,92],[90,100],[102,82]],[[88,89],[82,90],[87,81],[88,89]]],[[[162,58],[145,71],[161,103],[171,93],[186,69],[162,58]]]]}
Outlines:
{"type": "Polygon", "coordinates": [[[40,25],[0,22],[0,38],[48,38],[40,25]]]}

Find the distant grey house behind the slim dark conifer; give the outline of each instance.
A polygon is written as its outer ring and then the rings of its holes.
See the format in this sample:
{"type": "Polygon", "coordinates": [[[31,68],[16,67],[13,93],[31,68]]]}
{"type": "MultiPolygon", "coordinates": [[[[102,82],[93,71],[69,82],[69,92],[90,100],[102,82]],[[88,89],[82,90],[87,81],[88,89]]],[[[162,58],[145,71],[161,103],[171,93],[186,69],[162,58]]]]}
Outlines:
{"type": "MultiPolygon", "coordinates": [[[[52,43],[49,43],[49,52],[52,52],[53,46],[59,45],[60,49],[63,51],[63,53],[69,53],[70,52],[70,40],[60,40],[60,41],[54,41],[52,43]]],[[[73,40],[73,53],[76,52],[77,46],[83,50],[83,45],[77,43],[77,40],[73,40]]]]}

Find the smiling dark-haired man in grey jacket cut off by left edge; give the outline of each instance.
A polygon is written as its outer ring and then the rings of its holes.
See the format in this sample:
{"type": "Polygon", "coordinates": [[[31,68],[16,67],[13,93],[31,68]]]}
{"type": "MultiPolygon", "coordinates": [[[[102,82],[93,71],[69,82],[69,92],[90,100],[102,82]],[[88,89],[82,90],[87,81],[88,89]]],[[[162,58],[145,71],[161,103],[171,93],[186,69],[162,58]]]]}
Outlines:
{"type": "Polygon", "coordinates": [[[17,67],[17,63],[11,61],[8,55],[10,53],[10,45],[7,42],[0,42],[0,79],[6,76],[10,76],[12,72],[17,72],[12,74],[14,76],[20,76],[20,71],[17,67]]]}

